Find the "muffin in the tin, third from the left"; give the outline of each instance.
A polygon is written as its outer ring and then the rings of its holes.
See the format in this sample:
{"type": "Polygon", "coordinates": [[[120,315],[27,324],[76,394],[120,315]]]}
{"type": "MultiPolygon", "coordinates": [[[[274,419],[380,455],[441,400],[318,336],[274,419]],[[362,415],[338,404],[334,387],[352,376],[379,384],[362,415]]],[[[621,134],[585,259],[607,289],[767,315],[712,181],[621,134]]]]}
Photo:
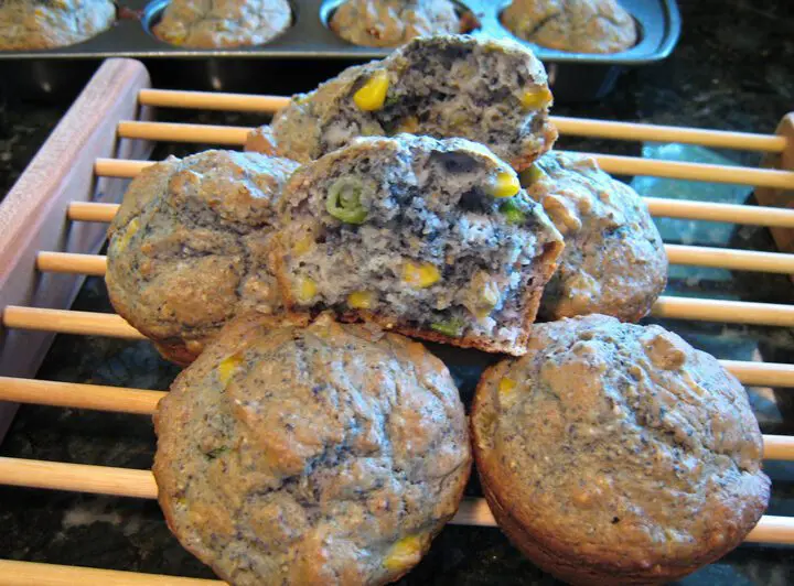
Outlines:
{"type": "Polygon", "coordinates": [[[416,36],[463,32],[450,0],[346,0],[329,25],[364,46],[399,46],[416,36]]]}

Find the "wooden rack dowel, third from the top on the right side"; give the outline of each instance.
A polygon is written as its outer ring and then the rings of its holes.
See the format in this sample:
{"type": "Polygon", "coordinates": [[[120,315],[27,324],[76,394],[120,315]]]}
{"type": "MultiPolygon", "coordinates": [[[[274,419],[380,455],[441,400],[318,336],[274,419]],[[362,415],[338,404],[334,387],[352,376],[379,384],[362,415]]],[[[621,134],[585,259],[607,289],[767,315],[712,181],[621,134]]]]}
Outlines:
{"type": "Polygon", "coordinates": [[[643,197],[651,215],[659,218],[682,218],[727,221],[772,228],[794,228],[794,209],[782,207],[688,202],[663,197],[643,197]]]}

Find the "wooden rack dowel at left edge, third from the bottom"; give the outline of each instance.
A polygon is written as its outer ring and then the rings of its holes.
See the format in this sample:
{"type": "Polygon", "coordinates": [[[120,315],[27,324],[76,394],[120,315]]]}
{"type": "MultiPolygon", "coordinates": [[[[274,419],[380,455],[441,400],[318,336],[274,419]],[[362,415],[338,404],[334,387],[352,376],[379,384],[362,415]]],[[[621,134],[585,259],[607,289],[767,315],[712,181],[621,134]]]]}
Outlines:
{"type": "Polygon", "coordinates": [[[0,401],[151,415],[162,391],[0,377],[0,401]]]}

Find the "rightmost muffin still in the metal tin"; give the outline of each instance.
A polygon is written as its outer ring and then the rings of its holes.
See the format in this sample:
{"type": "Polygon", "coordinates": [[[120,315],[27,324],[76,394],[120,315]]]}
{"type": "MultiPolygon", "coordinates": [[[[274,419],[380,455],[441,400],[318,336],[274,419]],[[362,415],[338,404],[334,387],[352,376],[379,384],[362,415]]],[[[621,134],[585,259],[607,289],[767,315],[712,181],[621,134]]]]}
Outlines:
{"type": "Polygon", "coordinates": [[[634,46],[634,19],[616,0],[513,0],[502,23],[532,43],[571,53],[618,53],[634,46]]]}

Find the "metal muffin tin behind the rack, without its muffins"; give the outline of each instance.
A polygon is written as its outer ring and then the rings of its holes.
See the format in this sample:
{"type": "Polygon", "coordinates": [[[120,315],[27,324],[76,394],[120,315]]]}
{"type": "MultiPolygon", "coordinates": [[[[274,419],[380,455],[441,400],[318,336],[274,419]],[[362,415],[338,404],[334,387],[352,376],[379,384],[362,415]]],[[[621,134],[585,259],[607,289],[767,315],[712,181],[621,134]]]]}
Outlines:
{"type": "MultiPolygon", "coordinates": [[[[147,63],[160,87],[249,93],[265,88],[270,93],[305,90],[352,63],[380,58],[391,51],[356,46],[337,37],[326,22],[342,1],[291,0],[291,28],[265,45],[195,50],[170,45],[151,34],[150,26],[169,0],[120,0],[116,24],[94,39],[46,51],[0,51],[0,84],[10,95],[64,97],[76,93],[103,58],[137,57],[147,63]]],[[[498,19],[509,0],[457,0],[457,3],[479,21],[473,35],[513,37],[498,19]]],[[[612,89],[622,69],[664,59],[675,47],[680,33],[675,0],[621,0],[621,3],[640,30],[640,42],[629,51],[607,55],[565,53],[522,41],[546,64],[558,101],[601,98],[612,89]]]]}

